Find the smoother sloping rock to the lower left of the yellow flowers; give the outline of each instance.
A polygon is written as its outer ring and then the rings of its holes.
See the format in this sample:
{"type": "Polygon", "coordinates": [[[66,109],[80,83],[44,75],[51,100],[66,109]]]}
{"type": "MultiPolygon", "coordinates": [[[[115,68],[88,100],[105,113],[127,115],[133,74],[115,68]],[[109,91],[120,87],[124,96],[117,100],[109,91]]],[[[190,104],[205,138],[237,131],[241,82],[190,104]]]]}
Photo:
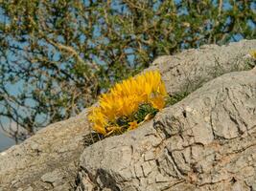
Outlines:
{"type": "Polygon", "coordinates": [[[88,131],[84,111],[0,153],[0,191],[71,189],[88,131]]]}

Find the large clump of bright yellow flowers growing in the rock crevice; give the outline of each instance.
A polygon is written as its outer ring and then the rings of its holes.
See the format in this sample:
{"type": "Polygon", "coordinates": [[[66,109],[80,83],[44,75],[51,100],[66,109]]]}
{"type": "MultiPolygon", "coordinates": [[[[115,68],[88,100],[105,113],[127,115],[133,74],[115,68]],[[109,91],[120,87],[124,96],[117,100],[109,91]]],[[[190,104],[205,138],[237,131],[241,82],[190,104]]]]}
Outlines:
{"type": "Polygon", "coordinates": [[[117,83],[109,93],[100,96],[99,106],[91,108],[88,119],[93,130],[108,135],[121,127],[117,124],[120,117],[128,118],[128,130],[138,124],[132,119],[141,104],[151,104],[156,110],[165,106],[166,88],[158,71],[130,77],[117,83]],[[129,120],[130,119],[130,120],[129,120]]]}

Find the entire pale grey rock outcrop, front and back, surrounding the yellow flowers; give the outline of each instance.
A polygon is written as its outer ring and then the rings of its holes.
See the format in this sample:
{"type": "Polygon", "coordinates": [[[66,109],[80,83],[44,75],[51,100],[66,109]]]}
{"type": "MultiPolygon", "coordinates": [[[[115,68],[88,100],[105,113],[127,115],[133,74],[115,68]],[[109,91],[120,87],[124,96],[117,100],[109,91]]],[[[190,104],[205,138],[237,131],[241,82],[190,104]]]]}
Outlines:
{"type": "Polygon", "coordinates": [[[256,40],[159,57],[148,70],[170,95],[198,90],[86,148],[86,110],[46,127],[0,153],[0,191],[256,190],[256,69],[230,73],[255,64],[252,49],[256,40]]]}

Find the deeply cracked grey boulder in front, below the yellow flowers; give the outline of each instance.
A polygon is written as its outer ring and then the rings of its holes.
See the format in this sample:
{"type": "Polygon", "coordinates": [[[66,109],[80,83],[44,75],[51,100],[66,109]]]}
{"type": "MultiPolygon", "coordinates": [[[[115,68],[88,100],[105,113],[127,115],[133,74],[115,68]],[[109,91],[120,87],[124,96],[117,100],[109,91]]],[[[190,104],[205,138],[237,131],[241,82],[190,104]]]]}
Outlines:
{"type": "Polygon", "coordinates": [[[77,190],[256,190],[256,68],[206,83],[81,155],[77,190]]]}

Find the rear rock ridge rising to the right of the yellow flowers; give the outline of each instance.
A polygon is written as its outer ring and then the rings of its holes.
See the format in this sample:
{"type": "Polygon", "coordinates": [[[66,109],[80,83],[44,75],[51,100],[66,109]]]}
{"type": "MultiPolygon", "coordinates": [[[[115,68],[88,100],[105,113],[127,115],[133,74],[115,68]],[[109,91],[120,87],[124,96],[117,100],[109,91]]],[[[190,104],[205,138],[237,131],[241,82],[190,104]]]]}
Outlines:
{"type": "Polygon", "coordinates": [[[253,65],[247,58],[256,49],[256,40],[243,40],[229,45],[204,45],[175,55],[155,59],[148,70],[159,70],[170,95],[191,92],[221,74],[247,70],[253,65]]]}

